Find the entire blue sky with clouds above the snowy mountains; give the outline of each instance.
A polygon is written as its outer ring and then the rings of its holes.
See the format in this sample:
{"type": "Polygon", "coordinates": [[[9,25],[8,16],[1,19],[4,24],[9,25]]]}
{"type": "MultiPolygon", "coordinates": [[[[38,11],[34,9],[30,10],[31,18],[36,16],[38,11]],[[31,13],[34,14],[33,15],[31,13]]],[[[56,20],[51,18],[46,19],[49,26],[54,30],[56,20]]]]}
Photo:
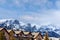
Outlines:
{"type": "Polygon", "coordinates": [[[0,0],[0,19],[60,26],[60,0],[0,0]]]}

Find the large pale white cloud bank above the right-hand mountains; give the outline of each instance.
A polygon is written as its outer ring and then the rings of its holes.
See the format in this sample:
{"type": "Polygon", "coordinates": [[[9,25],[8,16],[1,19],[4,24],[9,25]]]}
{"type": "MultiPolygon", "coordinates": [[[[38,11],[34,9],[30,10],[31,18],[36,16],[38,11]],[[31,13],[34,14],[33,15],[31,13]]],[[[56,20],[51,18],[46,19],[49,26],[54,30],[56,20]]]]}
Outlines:
{"type": "Polygon", "coordinates": [[[31,13],[31,15],[20,16],[20,19],[24,22],[35,23],[38,25],[60,25],[60,10],[45,10],[45,12],[41,12],[40,14],[35,13],[34,15],[31,13]]]}

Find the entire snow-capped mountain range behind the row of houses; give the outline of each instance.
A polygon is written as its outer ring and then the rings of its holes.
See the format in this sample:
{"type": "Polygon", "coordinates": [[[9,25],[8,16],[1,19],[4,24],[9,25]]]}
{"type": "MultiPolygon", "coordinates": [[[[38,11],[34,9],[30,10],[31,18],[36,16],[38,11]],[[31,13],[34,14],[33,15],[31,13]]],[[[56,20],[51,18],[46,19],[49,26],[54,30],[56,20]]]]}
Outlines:
{"type": "Polygon", "coordinates": [[[32,27],[30,23],[23,23],[17,19],[3,19],[3,20],[0,20],[0,27],[6,28],[6,29],[13,29],[13,30],[42,32],[42,34],[48,31],[49,36],[51,35],[55,37],[60,37],[60,34],[59,34],[60,28],[53,24],[41,25],[40,28],[37,29],[36,25],[32,27]],[[59,36],[56,36],[56,35],[59,35],[59,36]]]}

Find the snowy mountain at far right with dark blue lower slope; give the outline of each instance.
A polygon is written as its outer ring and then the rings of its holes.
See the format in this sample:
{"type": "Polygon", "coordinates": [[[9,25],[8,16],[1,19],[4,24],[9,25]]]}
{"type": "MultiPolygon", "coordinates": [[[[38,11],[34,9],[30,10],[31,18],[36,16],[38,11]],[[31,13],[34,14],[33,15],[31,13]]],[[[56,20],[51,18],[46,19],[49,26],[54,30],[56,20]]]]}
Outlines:
{"type": "Polygon", "coordinates": [[[48,31],[49,35],[51,35],[51,36],[55,36],[55,37],[60,36],[60,27],[58,27],[56,25],[52,25],[52,24],[42,25],[40,27],[40,32],[42,32],[44,34],[46,31],[48,31]],[[52,35],[51,32],[53,32],[54,35],[52,35]]]}

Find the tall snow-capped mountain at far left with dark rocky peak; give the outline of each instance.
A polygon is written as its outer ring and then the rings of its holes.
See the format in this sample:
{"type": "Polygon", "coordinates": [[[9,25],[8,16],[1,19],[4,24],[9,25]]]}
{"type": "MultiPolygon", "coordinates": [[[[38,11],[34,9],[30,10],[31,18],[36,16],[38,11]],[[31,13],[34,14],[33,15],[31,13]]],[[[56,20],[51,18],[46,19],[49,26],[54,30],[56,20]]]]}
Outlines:
{"type": "Polygon", "coordinates": [[[15,19],[5,19],[0,21],[0,27],[4,27],[7,29],[19,29],[20,23],[15,19]]]}

